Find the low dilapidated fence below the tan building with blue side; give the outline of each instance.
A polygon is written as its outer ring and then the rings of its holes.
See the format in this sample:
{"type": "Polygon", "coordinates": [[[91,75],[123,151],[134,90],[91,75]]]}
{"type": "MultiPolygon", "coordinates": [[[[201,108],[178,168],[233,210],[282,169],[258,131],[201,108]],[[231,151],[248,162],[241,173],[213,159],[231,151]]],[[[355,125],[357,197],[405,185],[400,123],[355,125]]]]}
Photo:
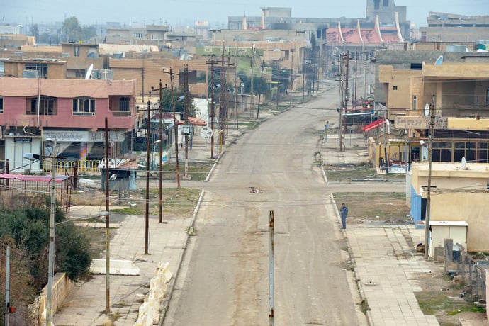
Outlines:
{"type": "Polygon", "coordinates": [[[453,245],[451,239],[445,240],[444,249],[446,273],[462,276],[466,285],[462,295],[470,294],[474,301],[485,302],[485,271],[489,269],[489,261],[474,258],[461,245],[453,245]]]}

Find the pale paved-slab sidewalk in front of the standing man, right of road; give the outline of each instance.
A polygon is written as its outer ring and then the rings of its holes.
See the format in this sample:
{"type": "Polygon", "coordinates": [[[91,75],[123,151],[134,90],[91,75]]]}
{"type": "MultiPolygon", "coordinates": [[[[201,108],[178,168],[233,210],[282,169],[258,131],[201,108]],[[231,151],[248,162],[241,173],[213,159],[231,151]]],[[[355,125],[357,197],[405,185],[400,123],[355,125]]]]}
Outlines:
{"type": "Polygon", "coordinates": [[[424,255],[413,254],[405,238],[422,242],[425,230],[353,225],[343,231],[357,281],[371,309],[367,315],[372,325],[439,325],[435,316],[423,315],[417,303],[415,292],[421,291],[417,275],[430,269],[424,255]]]}

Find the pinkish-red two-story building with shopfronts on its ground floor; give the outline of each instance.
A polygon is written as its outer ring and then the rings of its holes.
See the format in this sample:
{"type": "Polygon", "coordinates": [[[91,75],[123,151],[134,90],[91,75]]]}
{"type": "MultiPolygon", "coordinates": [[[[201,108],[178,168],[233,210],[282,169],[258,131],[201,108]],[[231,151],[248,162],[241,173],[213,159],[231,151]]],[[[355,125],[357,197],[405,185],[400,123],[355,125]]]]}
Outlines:
{"type": "Polygon", "coordinates": [[[28,164],[25,153],[50,154],[47,140],[62,157],[102,158],[106,118],[111,157],[127,153],[136,93],[136,80],[0,78],[1,164],[13,171],[28,164]]]}

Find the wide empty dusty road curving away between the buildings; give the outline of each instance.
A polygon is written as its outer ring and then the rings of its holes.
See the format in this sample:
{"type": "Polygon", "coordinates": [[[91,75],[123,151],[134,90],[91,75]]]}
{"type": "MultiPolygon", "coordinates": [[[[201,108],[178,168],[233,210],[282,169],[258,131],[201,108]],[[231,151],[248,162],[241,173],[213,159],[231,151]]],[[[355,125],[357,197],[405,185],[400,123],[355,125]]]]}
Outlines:
{"type": "Polygon", "coordinates": [[[326,91],[227,148],[204,186],[163,325],[268,325],[271,211],[275,325],[365,325],[330,191],[314,162],[318,132],[337,120],[336,103],[337,91],[326,91]]]}

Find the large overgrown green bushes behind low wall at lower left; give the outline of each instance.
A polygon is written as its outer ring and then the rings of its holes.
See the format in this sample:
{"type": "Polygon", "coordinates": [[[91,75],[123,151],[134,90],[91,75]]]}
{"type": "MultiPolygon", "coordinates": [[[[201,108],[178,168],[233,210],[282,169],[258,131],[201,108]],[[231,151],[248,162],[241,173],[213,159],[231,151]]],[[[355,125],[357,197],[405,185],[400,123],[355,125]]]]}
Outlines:
{"type": "MultiPolygon", "coordinates": [[[[66,220],[56,210],[55,221],[66,220]]],[[[28,304],[47,283],[49,259],[50,197],[14,195],[3,197],[0,206],[0,279],[6,284],[6,247],[10,255],[11,303],[21,323],[28,325],[28,304]]],[[[90,243],[73,223],[56,226],[55,273],[65,272],[76,281],[89,274],[90,243]]],[[[0,305],[5,306],[5,287],[0,288],[0,305]]],[[[18,317],[16,317],[18,318],[18,317]]],[[[20,325],[20,324],[19,324],[20,325]]]]}

